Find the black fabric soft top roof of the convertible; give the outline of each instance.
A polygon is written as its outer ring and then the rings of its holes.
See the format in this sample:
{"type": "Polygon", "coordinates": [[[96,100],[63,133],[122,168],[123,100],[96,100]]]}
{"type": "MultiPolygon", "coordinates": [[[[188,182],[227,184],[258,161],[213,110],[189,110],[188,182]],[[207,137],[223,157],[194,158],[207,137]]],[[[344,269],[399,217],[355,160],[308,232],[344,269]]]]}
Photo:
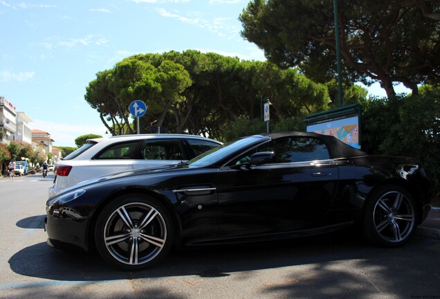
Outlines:
{"type": "Polygon", "coordinates": [[[262,136],[268,136],[269,138],[280,138],[286,136],[304,136],[314,137],[322,140],[329,149],[331,158],[349,158],[354,156],[365,156],[367,153],[356,149],[346,143],[343,143],[338,138],[333,136],[327,136],[312,132],[281,132],[281,133],[268,133],[262,134],[262,136]]]}

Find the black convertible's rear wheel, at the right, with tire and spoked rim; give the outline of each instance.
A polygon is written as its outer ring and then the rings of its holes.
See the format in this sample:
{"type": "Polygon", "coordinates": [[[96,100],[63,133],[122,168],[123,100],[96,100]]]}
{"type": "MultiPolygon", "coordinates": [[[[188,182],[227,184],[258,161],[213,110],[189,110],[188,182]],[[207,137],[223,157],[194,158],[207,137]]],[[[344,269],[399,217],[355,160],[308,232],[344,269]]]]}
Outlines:
{"type": "Polygon", "coordinates": [[[383,185],[365,202],[363,228],[370,242],[384,247],[402,246],[417,227],[416,204],[398,185],[383,185]]]}

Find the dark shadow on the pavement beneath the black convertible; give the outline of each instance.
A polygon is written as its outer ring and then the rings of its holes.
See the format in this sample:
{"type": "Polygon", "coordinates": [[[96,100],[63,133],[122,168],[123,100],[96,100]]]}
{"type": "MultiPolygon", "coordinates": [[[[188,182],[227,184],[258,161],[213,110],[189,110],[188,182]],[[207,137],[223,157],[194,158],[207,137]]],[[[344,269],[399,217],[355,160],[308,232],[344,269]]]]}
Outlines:
{"type": "MultiPolygon", "coordinates": [[[[26,223],[32,223],[31,219],[26,223]]],[[[174,275],[213,278],[241,271],[368,258],[383,251],[387,249],[369,246],[356,238],[332,234],[271,244],[173,250],[152,268],[129,272],[114,269],[98,255],[56,251],[42,242],[15,253],[8,262],[10,269],[20,275],[93,282],[174,275]]]]}

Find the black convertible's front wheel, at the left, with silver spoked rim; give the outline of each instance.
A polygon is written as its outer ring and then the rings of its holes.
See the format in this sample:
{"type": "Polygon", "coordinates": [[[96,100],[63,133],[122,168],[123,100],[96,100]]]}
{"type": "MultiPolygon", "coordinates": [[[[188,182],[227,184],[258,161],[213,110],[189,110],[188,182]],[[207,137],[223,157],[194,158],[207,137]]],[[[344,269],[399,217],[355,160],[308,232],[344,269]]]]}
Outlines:
{"type": "Polygon", "coordinates": [[[156,264],[167,255],[173,239],[169,213],[146,194],[116,197],[96,220],[98,252],[106,262],[124,270],[137,271],[156,264]]]}

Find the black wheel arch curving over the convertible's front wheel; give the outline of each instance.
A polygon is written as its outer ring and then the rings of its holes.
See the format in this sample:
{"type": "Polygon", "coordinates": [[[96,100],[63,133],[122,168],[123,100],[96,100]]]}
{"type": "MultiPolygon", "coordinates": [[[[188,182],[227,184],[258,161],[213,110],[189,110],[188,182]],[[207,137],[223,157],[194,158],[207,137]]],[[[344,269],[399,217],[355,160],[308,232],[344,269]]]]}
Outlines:
{"type": "Polygon", "coordinates": [[[118,190],[116,192],[113,192],[111,194],[109,194],[107,197],[105,197],[104,199],[102,199],[102,201],[100,201],[98,203],[98,205],[93,209],[93,212],[91,213],[90,216],[90,220],[89,220],[89,226],[87,227],[87,235],[86,235],[86,251],[95,251],[95,238],[94,238],[94,228],[96,225],[96,220],[98,219],[98,216],[100,215],[100,212],[102,211],[102,209],[107,206],[107,204],[111,201],[113,201],[114,199],[116,199],[116,197],[120,196],[120,195],[127,195],[127,194],[145,194],[148,195],[150,197],[153,197],[154,199],[156,199],[157,201],[159,201],[160,203],[163,204],[163,206],[165,207],[165,209],[167,210],[167,212],[169,212],[169,216],[171,217],[172,221],[173,221],[173,227],[174,227],[174,240],[173,240],[173,244],[178,245],[178,239],[180,239],[181,236],[181,232],[182,232],[182,225],[181,225],[181,219],[178,216],[178,213],[176,212],[176,209],[173,206],[173,203],[169,200],[169,198],[167,198],[165,195],[156,192],[156,190],[150,190],[150,189],[146,189],[146,188],[140,188],[138,186],[134,186],[131,188],[125,188],[125,189],[121,189],[118,190]]]}

